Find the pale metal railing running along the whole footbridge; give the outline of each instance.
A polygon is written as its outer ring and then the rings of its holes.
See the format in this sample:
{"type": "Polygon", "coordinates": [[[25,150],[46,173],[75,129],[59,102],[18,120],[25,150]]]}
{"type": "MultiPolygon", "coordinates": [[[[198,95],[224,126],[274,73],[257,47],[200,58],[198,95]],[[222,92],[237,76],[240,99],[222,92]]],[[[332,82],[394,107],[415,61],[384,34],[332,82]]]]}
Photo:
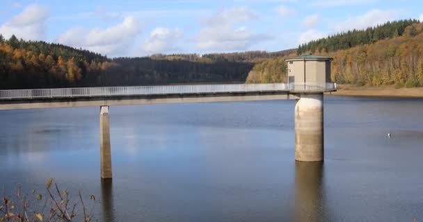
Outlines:
{"type": "MultiPolygon", "coordinates": [[[[305,83],[308,90],[335,89],[334,83],[305,83]]],[[[0,99],[49,99],[91,96],[143,96],[159,94],[214,94],[224,92],[277,92],[304,90],[304,83],[219,84],[219,85],[155,85],[132,87],[86,87],[60,89],[0,90],[0,99]],[[301,88],[302,87],[302,88],[301,88]]]]}

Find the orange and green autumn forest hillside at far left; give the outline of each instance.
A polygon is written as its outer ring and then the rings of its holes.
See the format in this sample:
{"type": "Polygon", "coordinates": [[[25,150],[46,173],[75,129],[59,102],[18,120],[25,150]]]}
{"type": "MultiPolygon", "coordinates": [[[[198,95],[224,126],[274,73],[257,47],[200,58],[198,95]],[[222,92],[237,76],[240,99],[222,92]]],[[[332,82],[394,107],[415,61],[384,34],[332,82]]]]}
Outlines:
{"type": "Polygon", "coordinates": [[[0,89],[70,87],[113,66],[97,53],[0,35],[0,89]]]}

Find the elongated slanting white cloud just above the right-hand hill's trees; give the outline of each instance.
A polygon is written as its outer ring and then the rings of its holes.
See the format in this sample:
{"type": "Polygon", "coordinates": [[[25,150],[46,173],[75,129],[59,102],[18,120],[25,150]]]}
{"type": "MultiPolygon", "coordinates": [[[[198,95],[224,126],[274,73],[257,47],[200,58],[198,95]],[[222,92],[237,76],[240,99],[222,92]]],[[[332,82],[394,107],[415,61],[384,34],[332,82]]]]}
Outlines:
{"type": "Polygon", "coordinates": [[[333,25],[333,31],[341,32],[347,30],[363,29],[369,26],[376,26],[383,24],[394,19],[398,15],[398,12],[391,10],[370,10],[365,15],[359,15],[352,17],[345,22],[337,23],[333,25]]]}

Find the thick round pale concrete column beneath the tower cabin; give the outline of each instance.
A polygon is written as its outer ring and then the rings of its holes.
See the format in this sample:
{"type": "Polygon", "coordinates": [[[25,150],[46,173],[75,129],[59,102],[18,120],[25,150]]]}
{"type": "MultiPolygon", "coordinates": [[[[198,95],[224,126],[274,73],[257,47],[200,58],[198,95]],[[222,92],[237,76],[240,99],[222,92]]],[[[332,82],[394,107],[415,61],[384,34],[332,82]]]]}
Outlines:
{"type": "Polygon", "coordinates": [[[295,160],[324,160],[323,94],[302,94],[295,104],[295,160]]]}

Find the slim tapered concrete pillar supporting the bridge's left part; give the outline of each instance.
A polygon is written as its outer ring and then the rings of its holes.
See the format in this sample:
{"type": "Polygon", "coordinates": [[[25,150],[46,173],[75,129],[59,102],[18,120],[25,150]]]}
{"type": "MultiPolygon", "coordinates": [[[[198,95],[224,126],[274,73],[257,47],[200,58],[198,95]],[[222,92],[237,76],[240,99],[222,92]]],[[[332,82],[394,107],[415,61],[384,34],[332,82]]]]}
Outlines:
{"type": "Polygon", "coordinates": [[[100,106],[100,164],[102,178],[111,178],[109,106],[100,106]]]}

